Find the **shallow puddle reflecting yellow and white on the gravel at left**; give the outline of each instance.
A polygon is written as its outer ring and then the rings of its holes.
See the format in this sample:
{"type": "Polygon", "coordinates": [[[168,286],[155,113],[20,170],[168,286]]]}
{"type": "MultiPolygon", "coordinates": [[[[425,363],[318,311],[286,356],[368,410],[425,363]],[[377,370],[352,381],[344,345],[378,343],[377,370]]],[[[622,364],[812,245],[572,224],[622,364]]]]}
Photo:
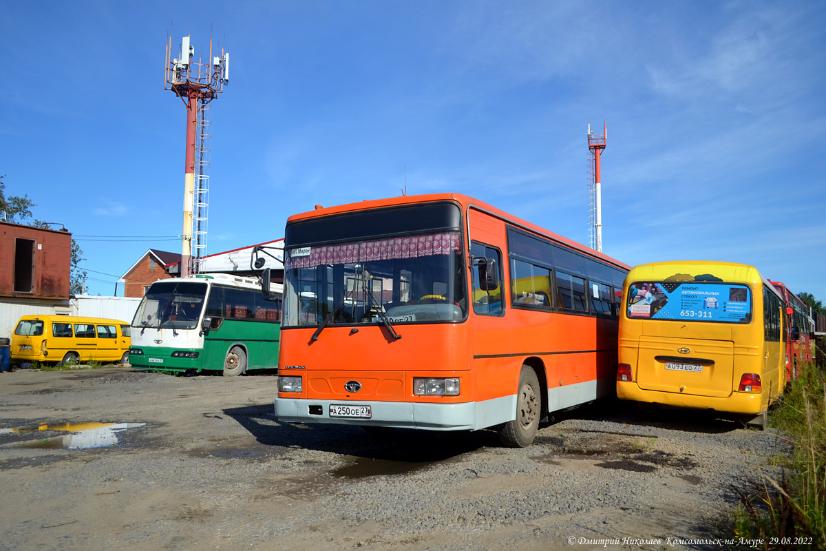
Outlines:
{"type": "Polygon", "coordinates": [[[16,444],[16,448],[26,449],[93,449],[105,448],[117,444],[117,435],[121,430],[144,426],[145,423],[58,423],[48,425],[20,427],[2,430],[2,434],[27,434],[40,430],[69,432],[64,436],[54,436],[29,440],[16,444]]]}

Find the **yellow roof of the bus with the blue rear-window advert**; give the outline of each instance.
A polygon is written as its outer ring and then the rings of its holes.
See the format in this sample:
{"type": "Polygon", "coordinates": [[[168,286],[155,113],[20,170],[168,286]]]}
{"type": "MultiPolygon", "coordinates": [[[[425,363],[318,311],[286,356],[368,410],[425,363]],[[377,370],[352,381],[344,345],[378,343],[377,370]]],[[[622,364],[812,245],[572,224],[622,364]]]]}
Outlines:
{"type": "MultiPolygon", "coordinates": [[[[750,283],[758,285],[765,284],[771,292],[778,297],[781,293],[767,278],[763,278],[754,266],[748,264],[737,264],[735,262],[720,262],[718,260],[669,260],[665,262],[653,262],[649,264],[639,264],[634,266],[625,277],[626,283],[633,281],[664,281],[673,276],[686,275],[694,278],[698,275],[709,273],[726,283],[750,283]]],[[[673,281],[692,281],[692,279],[674,279],[673,281]]],[[[784,299],[784,302],[785,299],[784,299]]]]}

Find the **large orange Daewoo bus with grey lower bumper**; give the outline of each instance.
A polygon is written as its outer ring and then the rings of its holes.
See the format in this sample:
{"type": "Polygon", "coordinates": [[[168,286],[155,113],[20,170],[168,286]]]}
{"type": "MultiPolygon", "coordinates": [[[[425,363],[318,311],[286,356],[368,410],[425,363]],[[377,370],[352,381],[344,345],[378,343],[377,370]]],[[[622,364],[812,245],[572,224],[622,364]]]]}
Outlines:
{"type": "MultiPolygon", "coordinates": [[[[287,220],[278,419],[496,427],[614,395],[629,266],[472,197],[395,197],[287,220]]],[[[268,292],[269,273],[263,273],[268,292]]]]}

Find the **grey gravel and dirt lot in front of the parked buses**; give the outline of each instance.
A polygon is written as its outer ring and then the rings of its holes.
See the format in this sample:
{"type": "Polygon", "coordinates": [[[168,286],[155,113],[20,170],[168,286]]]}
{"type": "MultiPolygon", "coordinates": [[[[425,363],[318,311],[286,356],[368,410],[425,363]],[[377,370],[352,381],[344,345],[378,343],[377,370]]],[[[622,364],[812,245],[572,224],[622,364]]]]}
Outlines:
{"type": "Polygon", "coordinates": [[[376,437],[279,424],[274,387],[3,374],[0,549],[722,549],[667,539],[719,537],[736,489],[786,451],[771,430],[618,402],[567,412],[526,449],[487,430],[376,437]],[[134,425],[67,449],[65,422],[134,425]]]}

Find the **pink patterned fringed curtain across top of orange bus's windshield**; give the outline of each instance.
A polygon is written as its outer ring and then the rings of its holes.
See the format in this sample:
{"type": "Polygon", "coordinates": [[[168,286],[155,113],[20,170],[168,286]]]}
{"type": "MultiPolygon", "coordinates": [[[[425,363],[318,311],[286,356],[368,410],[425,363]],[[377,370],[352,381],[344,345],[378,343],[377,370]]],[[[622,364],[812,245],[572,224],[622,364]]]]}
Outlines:
{"type": "Polygon", "coordinates": [[[287,252],[286,269],[315,268],[323,264],[353,264],[388,259],[417,259],[422,256],[452,254],[462,248],[458,232],[396,237],[386,240],[320,245],[310,254],[293,257],[287,252]]]}

